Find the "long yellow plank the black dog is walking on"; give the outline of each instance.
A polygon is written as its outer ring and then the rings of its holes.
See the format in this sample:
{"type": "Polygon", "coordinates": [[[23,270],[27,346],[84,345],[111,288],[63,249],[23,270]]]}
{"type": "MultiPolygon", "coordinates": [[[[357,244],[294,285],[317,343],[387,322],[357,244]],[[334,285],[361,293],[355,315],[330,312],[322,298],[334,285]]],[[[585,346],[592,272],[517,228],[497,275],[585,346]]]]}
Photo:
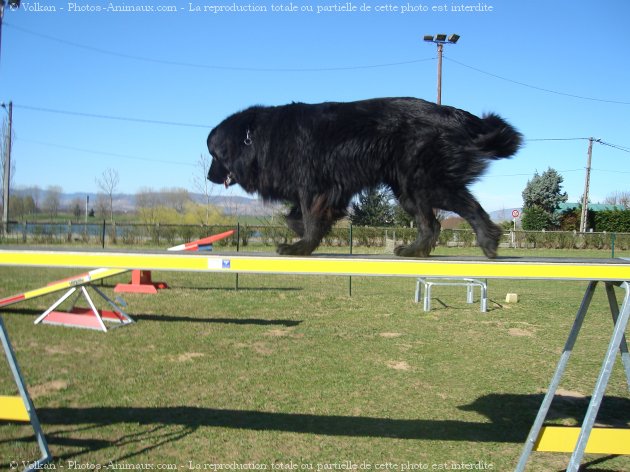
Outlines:
{"type": "Polygon", "coordinates": [[[112,269],[172,270],[225,273],[366,275],[400,277],[471,277],[541,280],[630,280],[630,261],[623,259],[430,257],[407,259],[382,256],[282,257],[267,254],[198,255],[0,250],[0,266],[110,267],[112,269]]]}

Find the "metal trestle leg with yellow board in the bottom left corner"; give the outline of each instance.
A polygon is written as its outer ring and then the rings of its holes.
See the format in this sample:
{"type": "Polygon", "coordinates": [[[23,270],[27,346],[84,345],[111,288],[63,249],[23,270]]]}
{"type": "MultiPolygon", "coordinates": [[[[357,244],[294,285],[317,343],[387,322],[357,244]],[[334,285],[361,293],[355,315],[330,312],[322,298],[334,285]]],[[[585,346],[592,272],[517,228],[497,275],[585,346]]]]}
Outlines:
{"type": "Polygon", "coordinates": [[[35,407],[24,384],[22,372],[15,358],[15,352],[9,341],[9,335],[7,334],[2,317],[0,317],[0,341],[2,341],[4,354],[9,362],[15,384],[20,392],[19,397],[0,397],[0,420],[25,421],[31,423],[42,457],[29,464],[24,471],[41,470],[43,465],[48,464],[52,460],[52,455],[50,454],[48,443],[39,424],[35,407]]]}

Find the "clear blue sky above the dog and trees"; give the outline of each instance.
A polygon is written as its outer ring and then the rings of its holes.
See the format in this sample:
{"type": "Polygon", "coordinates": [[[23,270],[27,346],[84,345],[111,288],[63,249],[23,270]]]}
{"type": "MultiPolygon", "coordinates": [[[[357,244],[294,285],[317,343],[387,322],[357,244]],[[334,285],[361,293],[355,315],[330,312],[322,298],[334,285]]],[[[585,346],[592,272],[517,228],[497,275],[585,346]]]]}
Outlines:
{"type": "Polygon", "coordinates": [[[94,192],[96,177],[114,168],[120,192],[194,191],[206,136],[227,115],[291,101],[435,100],[436,48],[422,37],[457,33],[459,42],[445,46],[442,102],[497,112],[528,140],[473,187],[488,211],[521,206],[528,179],[548,167],[564,177],[570,201],[580,198],[588,141],[541,139],[593,136],[625,148],[595,144],[591,201],[630,190],[627,0],[292,2],[359,9],[320,14],[273,12],[291,2],[268,0],[144,2],[77,5],[176,11],[70,12],[57,0],[7,9],[0,101],[14,102],[16,185],[94,192]],[[190,11],[233,4],[268,11],[190,11]],[[37,5],[56,11],[34,11],[37,5]],[[377,5],[398,11],[376,12],[377,5]],[[400,12],[419,5],[429,11],[400,12]],[[449,11],[455,5],[492,11],[449,11]],[[447,11],[431,11],[439,6],[447,11]]]}

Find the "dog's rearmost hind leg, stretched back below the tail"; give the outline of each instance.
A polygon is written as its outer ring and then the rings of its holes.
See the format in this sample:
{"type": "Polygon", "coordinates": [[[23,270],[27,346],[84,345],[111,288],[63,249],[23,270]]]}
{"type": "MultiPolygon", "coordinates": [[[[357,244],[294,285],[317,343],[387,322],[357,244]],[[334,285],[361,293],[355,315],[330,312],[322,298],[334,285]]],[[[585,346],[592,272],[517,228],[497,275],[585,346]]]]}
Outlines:
{"type": "Polygon", "coordinates": [[[449,193],[445,210],[454,211],[464,218],[477,234],[477,243],[486,257],[497,257],[497,248],[503,231],[495,225],[479,202],[466,189],[449,193]]]}

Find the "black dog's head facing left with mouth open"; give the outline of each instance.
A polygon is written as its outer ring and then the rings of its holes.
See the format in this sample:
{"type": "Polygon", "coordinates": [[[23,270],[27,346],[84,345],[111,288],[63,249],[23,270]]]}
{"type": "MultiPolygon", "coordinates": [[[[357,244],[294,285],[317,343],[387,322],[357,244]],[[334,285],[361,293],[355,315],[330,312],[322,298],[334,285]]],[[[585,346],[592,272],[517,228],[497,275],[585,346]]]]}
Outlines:
{"type": "Polygon", "coordinates": [[[208,180],[225,188],[240,184],[247,192],[257,191],[253,127],[252,113],[246,110],[227,118],[210,132],[207,144],[212,164],[208,180]]]}

